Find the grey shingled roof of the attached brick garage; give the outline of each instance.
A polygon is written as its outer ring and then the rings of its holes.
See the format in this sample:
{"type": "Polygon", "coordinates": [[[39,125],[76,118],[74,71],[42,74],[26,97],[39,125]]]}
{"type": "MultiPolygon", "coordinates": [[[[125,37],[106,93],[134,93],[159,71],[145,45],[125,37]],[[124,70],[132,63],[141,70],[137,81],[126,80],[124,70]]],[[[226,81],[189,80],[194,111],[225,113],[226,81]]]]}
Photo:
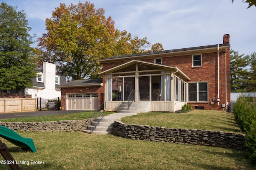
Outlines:
{"type": "Polygon", "coordinates": [[[62,85],[58,85],[57,87],[70,88],[70,87],[97,87],[97,86],[103,86],[102,79],[74,80],[62,85]]]}

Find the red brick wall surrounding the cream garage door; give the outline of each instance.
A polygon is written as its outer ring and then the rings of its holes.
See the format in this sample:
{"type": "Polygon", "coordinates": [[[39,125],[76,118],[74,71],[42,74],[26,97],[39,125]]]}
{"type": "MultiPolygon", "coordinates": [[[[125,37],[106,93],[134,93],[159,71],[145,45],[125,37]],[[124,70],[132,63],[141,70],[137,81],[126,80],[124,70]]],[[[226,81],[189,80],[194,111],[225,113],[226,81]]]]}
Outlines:
{"type": "Polygon", "coordinates": [[[100,106],[100,99],[104,93],[104,86],[100,87],[76,87],[76,88],[61,88],[61,107],[66,110],[66,94],[84,94],[84,93],[98,93],[98,107],[100,106]],[[82,92],[80,92],[82,90],[82,92]]]}

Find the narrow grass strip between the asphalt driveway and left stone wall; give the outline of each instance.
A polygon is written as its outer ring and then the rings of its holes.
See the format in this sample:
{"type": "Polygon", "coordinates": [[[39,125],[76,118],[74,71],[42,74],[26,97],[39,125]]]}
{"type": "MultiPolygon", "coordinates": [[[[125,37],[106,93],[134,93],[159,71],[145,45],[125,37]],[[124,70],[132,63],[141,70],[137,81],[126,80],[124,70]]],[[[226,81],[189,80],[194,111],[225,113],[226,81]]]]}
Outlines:
{"type": "MultiPolygon", "coordinates": [[[[22,118],[10,118],[0,119],[0,122],[43,122],[43,121],[66,121],[66,120],[83,120],[92,116],[95,111],[80,112],[80,113],[67,113],[61,115],[47,115],[37,117],[22,117],[22,118]]],[[[115,112],[105,112],[105,116],[115,112]]]]}

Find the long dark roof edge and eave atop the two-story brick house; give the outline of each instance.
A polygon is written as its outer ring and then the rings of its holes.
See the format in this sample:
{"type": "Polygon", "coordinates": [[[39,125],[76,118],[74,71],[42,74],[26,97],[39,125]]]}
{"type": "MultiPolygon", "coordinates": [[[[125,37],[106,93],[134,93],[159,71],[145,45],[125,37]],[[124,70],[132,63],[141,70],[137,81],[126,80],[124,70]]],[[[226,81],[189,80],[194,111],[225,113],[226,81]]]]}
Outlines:
{"type": "MultiPolygon", "coordinates": [[[[195,51],[217,51],[217,48],[224,49],[225,47],[230,47],[229,43],[223,44],[215,44],[215,45],[205,45],[205,46],[198,46],[198,47],[189,47],[189,48],[180,48],[180,49],[170,49],[170,50],[163,50],[163,51],[153,51],[150,53],[137,53],[137,54],[130,54],[130,55],[117,55],[114,57],[100,59],[98,61],[104,63],[108,61],[116,61],[116,60],[123,60],[123,59],[138,59],[138,57],[156,57],[156,55],[178,55],[179,53],[193,53],[195,51]]],[[[160,57],[160,56],[159,56],[160,57]]]]}

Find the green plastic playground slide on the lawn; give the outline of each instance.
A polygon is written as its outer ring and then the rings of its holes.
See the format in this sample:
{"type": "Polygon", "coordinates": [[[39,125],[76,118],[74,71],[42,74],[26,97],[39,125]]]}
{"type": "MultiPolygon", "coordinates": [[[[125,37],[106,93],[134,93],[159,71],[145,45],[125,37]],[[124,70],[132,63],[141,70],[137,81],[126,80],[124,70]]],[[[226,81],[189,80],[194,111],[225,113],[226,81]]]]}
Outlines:
{"type": "Polygon", "coordinates": [[[0,126],[0,137],[16,146],[20,146],[23,150],[32,150],[33,152],[36,152],[36,147],[32,138],[24,138],[10,128],[0,126]]]}

